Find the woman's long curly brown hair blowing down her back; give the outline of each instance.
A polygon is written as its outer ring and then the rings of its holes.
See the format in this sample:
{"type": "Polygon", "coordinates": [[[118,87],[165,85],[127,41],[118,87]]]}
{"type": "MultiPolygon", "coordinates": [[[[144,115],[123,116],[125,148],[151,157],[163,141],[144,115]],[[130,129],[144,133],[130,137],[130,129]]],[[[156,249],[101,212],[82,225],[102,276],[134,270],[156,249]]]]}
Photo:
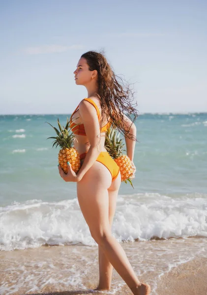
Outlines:
{"type": "MultiPolygon", "coordinates": [[[[136,141],[136,137],[130,134],[130,127],[122,127],[123,114],[130,118],[132,123],[138,117],[138,111],[135,109],[137,103],[132,103],[134,92],[130,89],[130,85],[114,73],[103,53],[88,51],[81,58],[87,60],[90,71],[97,70],[98,72],[99,93],[97,95],[100,99],[102,114],[106,114],[112,126],[121,134],[136,141]]],[[[100,126],[102,126],[103,118],[104,116],[102,116],[100,126]]]]}

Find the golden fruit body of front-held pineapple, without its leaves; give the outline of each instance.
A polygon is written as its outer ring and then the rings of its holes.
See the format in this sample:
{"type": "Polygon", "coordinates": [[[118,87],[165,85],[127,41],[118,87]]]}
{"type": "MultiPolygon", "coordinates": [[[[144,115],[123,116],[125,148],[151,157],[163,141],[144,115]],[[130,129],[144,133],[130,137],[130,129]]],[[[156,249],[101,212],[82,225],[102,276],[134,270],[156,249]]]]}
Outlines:
{"type": "Polygon", "coordinates": [[[80,155],[76,148],[62,148],[58,154],[59,165],[65,174],[68,173],[67,162],[70,163],[72,170],[77,173],[81,168],[80,155]]]}

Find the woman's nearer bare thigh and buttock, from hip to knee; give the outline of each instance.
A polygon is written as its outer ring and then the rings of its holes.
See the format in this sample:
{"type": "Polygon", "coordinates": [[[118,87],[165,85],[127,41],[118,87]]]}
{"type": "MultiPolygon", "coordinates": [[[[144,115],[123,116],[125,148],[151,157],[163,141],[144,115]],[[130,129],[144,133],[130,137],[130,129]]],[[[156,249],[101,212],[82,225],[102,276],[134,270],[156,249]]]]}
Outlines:
{"type": "Polygon", "coordinates": [[[108,188],[111,183],[111,173],[99,162],[77,183],[78,202],[92,236],[110,230],[108,188]]]}

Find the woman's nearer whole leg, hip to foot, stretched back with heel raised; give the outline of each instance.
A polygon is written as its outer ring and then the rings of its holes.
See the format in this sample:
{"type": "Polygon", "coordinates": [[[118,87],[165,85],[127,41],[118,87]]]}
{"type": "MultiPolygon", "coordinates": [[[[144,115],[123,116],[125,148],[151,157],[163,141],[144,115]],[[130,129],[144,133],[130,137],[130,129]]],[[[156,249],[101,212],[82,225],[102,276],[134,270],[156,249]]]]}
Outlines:
{"type": "Polygon", "coordinates": [[[124,250],[111,234],[109,224],[109,195],[111,174],[99,162],[95,162],[77,183],[78,201],[91,236],[104,251],[105,256],[117,270],[134,295],[148,295],[150,287],[141,284],[124,250]]]}

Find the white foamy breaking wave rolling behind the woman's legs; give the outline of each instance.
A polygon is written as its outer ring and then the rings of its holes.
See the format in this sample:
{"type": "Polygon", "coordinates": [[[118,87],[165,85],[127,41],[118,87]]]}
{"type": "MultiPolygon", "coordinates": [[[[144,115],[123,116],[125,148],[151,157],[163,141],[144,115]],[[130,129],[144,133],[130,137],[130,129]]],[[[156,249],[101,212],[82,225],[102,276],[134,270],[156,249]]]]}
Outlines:
{"type": "MultiPolygon", "coordinates": [[[[112,227],[119,241],[207,237],[207,196],[173,199],[160,194],[119,196],[112,227]]],[[[0,208],[0,249],[95,245],[77,199],[41,200],[0,208]]]]}

